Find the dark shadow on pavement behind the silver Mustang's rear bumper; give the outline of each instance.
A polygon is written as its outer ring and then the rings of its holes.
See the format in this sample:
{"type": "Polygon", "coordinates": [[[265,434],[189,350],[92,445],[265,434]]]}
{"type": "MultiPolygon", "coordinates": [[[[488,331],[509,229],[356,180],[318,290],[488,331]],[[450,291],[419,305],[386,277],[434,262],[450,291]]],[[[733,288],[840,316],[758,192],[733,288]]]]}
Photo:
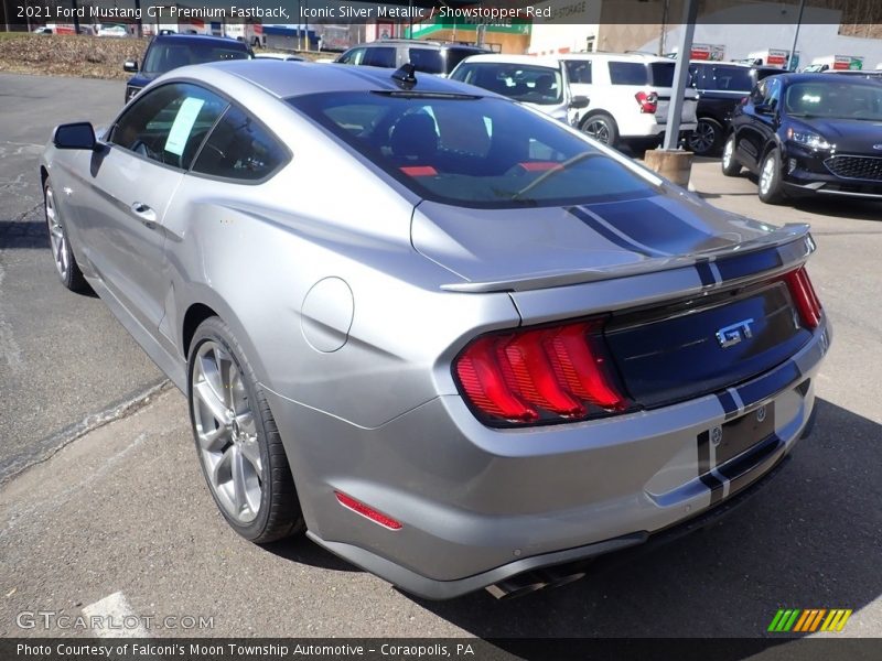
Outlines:
{"type": "Polygon", "coordinates": [[[778,608],[882,594],[882,425],[818,400],[793,460],[731,516],[634,562],[510,602],[415,599],[481,638],[761,637],[778,608]]]}

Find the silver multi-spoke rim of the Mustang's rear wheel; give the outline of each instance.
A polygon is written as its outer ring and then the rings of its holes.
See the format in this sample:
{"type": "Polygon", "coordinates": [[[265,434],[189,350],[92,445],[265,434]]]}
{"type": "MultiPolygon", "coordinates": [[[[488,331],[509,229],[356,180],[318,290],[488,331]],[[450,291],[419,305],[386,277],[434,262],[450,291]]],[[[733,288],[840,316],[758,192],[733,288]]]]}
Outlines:
{"type": "Polygon", "coordinates": [[[208,340],[196,353],[191,386],[208,485],[234,520],[250,523],[260,511],[263,463],[241,372],[228,351],[208,340]]]}

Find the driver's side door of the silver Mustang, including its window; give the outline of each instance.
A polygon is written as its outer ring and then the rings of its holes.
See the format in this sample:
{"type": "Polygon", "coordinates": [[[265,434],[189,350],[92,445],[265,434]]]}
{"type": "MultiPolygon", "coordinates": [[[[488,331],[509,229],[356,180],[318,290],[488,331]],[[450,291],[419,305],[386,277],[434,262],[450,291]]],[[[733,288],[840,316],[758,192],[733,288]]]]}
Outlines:
{"type": "Polygon", "coordinates": [[[148,330],[162,318],[165,212],[226,101],[195,85],[139,97],[92,158],[80,213],[87,257],[104,284],[148,330]]]}

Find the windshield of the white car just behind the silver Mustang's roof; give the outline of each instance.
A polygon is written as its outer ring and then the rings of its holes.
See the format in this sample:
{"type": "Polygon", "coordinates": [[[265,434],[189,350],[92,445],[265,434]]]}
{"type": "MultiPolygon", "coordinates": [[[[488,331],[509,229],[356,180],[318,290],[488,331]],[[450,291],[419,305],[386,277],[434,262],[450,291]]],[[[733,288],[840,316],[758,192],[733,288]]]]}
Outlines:
{"type": "Polygon", "coordinates": [[[504,62],[464,62],[451,78],[525,104],[555,106],[563,102],[563,85],[558,68],[504,62]]]}

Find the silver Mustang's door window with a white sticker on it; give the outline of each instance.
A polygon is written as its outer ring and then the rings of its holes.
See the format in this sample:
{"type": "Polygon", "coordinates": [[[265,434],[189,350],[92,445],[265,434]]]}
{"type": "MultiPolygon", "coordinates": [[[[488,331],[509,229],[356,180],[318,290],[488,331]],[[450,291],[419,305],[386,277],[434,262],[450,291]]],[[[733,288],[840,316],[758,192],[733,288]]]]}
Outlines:
{"type": "Polygon", "coordinates": [[[189,170],[227,102],[185,83],[138,97],[114,126],[110,142],[159,163],[189,170]]]}

